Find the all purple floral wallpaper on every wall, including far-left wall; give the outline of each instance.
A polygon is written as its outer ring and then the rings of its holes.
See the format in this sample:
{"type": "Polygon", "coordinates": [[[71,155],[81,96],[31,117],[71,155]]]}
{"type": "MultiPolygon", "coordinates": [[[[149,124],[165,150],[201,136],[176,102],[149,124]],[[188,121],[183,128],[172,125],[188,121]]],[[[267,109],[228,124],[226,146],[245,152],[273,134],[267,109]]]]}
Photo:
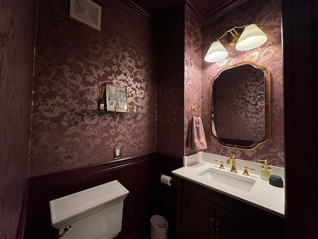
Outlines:
{"type": "Polygon", "coordinates": [[[158,43],[156,29],[116,0],[94,1],[102,6],[101,31],[70,18],[69,1],[38,2],[34,78],[37,2],[0,5],[0,237],[15,237],[27,169],[37,176],[110,161],[114,146],[121,146],[123,158],[194,153],[185,144],[192,104],[201,111],[204,151],[284,166],[280,0],[246,1],[202,28],[186,9],[160,38],[175,45],[158,43]],[[226,46],[227,59],[202,60],[211,39],[247,23],[267,34],[266,45],[245,52],[226,46]],[[270,69],[272,128],[266,143],[237,150],[210,135],[208,90],[220,69],[246,60],[270,69]],[[126,88],[129,107],[135,104],[139,114],[83,112],[82,106],[97,106],[98,86],[105,83],[126,88]]]}

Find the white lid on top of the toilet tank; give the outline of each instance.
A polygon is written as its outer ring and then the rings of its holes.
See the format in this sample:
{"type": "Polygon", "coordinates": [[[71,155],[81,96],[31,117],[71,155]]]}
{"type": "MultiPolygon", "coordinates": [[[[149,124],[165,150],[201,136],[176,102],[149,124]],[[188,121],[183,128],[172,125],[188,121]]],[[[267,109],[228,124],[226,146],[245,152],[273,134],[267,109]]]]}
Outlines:
{"type": "Polygon", "coordinates": [[[55,226],[94,209],[123,200],[129,191],[117,180],[50,201],[51,222],[55,226]]]}

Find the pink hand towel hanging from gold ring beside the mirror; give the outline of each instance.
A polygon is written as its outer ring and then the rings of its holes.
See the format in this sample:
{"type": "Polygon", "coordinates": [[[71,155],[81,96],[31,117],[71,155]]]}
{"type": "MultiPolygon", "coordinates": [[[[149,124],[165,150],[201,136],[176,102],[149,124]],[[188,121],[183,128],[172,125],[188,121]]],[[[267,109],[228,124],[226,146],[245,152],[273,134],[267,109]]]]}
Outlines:
{"type": "Polygon", "coordinates": [[[202,120],[199,117],[193,116],[189,122],[187,147],[192,150],[207,148],[202,120]]]}

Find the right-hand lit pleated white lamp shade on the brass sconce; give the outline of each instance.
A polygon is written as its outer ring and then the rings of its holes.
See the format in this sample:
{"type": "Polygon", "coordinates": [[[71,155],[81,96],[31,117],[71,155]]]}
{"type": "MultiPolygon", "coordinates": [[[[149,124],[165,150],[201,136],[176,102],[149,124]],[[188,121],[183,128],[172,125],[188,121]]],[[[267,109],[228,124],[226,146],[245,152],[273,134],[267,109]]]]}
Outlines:
{"type": "Polygon", "coordinates": [[[251,50],[263,45],[267,41],[266,34],[256,24],[247,25],[239,37],[235,49],[238,51],[251,50]]]}

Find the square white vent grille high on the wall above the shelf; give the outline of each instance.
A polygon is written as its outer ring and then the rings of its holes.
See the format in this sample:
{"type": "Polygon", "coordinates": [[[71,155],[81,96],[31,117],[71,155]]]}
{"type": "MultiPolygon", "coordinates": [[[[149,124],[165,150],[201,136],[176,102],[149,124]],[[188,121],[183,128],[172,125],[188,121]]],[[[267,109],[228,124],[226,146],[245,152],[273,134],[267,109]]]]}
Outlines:
{"type": "Polygon", "coordinates": [[[71,0],[70,16],[100,30],[101,6],[91,0],[71,0]]]}

